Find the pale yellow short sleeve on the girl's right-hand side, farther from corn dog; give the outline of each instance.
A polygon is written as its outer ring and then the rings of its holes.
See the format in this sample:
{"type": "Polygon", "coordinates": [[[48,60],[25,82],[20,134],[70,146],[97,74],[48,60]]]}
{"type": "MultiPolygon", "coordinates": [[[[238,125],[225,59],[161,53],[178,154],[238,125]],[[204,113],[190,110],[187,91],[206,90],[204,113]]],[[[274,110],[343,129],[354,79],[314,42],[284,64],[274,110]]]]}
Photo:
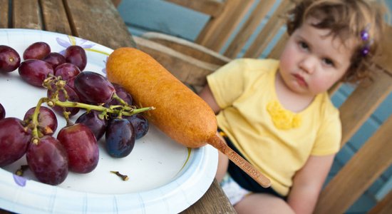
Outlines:
{"type": "Polygon", "coordinates": [[[339,111],[329,111],[321,123],[316,141],[311,151],[312,156],[326,156],[337,153],[341,146],[341,121],[339,111]]]}

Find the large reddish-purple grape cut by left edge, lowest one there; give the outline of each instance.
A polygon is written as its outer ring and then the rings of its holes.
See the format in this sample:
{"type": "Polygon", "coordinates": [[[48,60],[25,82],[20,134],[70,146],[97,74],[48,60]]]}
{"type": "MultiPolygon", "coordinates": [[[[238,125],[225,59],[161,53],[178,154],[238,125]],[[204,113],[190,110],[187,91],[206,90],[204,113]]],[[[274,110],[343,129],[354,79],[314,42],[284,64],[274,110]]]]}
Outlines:
{"type": "Polygon", "coordinates": [[[26,153],[31,135],[18,118],[0,120],[0,167],[19,160],[26,153]]]}

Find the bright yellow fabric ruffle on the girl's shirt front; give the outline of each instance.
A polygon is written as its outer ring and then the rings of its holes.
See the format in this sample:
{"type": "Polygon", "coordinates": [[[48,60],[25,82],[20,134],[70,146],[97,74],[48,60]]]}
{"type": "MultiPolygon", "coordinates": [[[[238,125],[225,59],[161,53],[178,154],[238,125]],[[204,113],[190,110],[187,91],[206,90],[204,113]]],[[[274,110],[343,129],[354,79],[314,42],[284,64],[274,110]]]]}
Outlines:
{"type": "Polygon", "coordinates": [[[298,128],[301,126],[301,116],[282,108],[278,101],[271,101],[267,104],[267,111],[274,122],[274,126],[279,129],[298,128]]]}

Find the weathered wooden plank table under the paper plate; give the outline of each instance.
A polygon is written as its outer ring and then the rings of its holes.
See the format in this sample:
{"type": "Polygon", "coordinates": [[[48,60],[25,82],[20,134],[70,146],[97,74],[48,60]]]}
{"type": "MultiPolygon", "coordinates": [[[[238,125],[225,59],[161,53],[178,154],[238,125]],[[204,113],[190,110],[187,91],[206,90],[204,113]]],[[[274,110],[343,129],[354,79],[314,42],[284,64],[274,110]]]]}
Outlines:
{"type": "MultiPolygon", "coordinates": [[[[113,0],[0,0],[0,28],[40,29],[78,36],[111,49],[136,44],[113,0]],[[9,4],[10,3],[10,4],[9,4]]],[[[0,213],[9,213],[1,210],[0,213]]],[[[216,180],[182,213],[235,213],[216,180]]]]}

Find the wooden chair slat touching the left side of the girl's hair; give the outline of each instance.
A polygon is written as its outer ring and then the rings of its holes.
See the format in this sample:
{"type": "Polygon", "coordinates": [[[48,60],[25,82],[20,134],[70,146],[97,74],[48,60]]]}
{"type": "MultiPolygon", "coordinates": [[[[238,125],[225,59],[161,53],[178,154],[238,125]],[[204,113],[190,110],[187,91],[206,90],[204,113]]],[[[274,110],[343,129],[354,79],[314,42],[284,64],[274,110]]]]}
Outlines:
{"type": "MultiPolygon", "coordinates": [[[[244,57],[259,58],[264,49],[267,48],[277,35],[279,29],[284,26],[285,20],[282,18],[282,14],[284,14],[290,6],[292,6],[290,0],[282,0],[282,3],[279,4],[279,7],[274,11],[271,18],[269,18],[269,21],[265,24],[262,31],[260,31],[256,39],[254,39],[252,45],[245,51],[244,57]]],[[[283,41],[279,41],[279,44],[281,42],[283,41]]]]}

